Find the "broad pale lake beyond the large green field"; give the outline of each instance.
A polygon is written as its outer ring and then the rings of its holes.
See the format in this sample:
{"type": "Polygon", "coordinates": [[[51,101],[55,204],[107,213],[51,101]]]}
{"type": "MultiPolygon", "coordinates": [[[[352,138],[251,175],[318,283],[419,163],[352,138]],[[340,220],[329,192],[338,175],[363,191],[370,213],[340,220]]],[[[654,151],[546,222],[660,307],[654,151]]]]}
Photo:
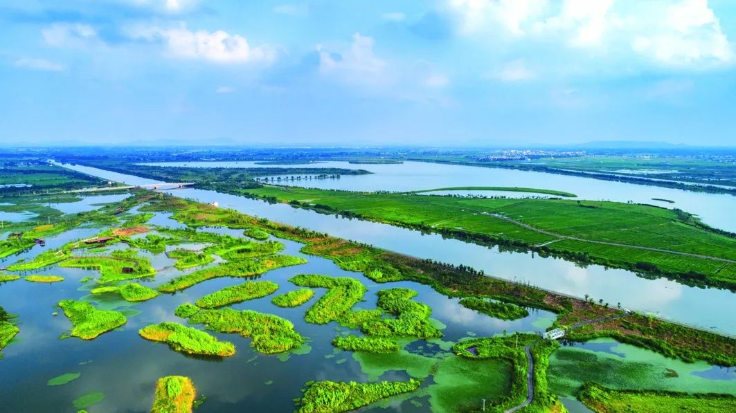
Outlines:
{"type": "MultiPolygon", "coordinates": [[[[694,193],[651,185],[602,181],[582,176],[531,172],[503,168],[482,168],[464,165],[445,165],[430,162],[403,164],[351,164],[349,162],[316,162],[305,165],[258,165],[252,161],[239,162],[161,162],[144,165],[194,168],[346,168],[364,169],[372,175],[344,175],[340,179],[310,179],[289,181],[289,185],[335,190],[409,191],[431,190],[443,187],[527,187],[560,190],[594,201],[634,201],[665,208],[679,208],[698,215],[704,223],[715,228],[736,232],[736,197],[729,194],[694,193]],[[657,199],[667,199],[658,201],[657,199]]],[[[465,191],[467,192],[467,191],[465,191]]],[[[487,195],[496,195],[486,192],[487,195]]],[[[514,196],[513,193],[502,195],[514,196]]],[[[536,195],[536,194],[515,194],[536,195]]]]}

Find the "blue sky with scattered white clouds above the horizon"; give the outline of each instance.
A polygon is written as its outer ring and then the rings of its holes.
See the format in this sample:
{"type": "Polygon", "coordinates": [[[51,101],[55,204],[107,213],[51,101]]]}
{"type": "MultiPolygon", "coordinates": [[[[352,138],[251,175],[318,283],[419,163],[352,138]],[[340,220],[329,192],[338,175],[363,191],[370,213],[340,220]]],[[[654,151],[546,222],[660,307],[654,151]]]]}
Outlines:
{"type": "Polygon", "coordinates": [[[3,0],[0,144],[736,146],[733,0],[3,0]]]}

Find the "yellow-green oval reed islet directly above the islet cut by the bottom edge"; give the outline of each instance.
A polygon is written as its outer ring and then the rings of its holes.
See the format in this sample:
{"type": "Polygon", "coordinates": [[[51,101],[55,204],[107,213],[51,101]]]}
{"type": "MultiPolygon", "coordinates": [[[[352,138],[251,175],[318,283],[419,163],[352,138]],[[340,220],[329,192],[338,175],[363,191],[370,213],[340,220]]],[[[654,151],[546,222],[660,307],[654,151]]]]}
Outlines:
{"type": "Polygon", "coordinates": [[[227,357],[235,354],[235,345],[217,340],[205,331],[179,323],[160,323],[138,331],[146,340],[166,342],[174,351],[200,356],[227,357]]]}

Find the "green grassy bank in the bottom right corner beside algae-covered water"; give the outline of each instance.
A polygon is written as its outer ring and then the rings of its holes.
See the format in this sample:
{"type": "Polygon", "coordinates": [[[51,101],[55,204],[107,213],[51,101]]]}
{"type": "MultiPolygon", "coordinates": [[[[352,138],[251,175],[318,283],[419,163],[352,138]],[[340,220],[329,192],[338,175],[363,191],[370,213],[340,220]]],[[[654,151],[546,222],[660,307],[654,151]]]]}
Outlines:
{"type": "Polygon", "coordinates": [[[578,393],[578,398],[593,412],[598,413],[718,413],[736,411],[736,397],[732,395],[612,390],[598,384],[587,384],[578,393]]]}

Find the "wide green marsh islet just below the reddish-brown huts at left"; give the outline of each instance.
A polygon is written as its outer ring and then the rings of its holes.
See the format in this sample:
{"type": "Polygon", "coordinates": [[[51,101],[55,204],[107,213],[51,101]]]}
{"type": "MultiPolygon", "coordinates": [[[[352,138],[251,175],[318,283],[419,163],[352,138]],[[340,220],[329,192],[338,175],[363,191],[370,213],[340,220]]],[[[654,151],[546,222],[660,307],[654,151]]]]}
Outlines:
{"type": "Polygon", "coordinates": [[[74,256],[61,262],[59,266],[97,269],[102,274],[100,282],[140,279],[156,273],[151,261],[138,256],[132,249],[113,251],[110,256],[74,256]]]}

